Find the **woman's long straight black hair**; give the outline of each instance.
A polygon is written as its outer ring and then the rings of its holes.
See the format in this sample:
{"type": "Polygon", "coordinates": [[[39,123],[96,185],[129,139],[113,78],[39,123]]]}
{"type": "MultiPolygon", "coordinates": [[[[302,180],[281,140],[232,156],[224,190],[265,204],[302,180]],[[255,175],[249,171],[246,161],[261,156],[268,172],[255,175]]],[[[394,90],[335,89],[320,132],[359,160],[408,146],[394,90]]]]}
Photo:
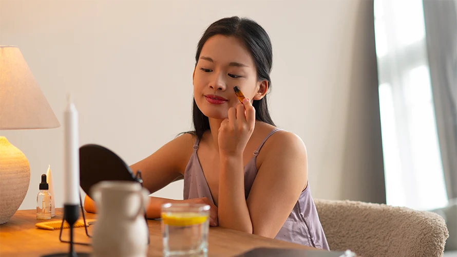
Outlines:
{"type": "MultiPolygon", "coordinates": [[[[269,35],[259,24],[253,20],[237,16],[214,22],[206,29],[198,42],[195,65],[198,63],[203,45],[214,35],[234,36],[241,40],[254,59],[257,80],[268,81],[268,89],[271,89],[270,72],[273,65],[273,50],[269,35]]],[[[260,100],[254,100],[253,106],[256,109],[256,120],[275,125],[268,111],[266,96],[260,100]]],[[[210,121],[198,108],[195,98],[192,112],[194,133],[201,139],[205,131],[210,130],[210,121]]]]}

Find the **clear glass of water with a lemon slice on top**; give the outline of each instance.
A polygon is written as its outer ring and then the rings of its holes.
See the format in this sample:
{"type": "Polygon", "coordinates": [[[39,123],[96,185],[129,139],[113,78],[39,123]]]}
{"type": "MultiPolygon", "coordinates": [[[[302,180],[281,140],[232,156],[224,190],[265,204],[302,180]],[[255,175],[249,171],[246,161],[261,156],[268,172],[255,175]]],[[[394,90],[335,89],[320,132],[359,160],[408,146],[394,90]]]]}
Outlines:
{"type": "Polygon", "coordinates": [[[161,218],[164,256],[207,256],[209,205],[164,204],[161,218]]]}

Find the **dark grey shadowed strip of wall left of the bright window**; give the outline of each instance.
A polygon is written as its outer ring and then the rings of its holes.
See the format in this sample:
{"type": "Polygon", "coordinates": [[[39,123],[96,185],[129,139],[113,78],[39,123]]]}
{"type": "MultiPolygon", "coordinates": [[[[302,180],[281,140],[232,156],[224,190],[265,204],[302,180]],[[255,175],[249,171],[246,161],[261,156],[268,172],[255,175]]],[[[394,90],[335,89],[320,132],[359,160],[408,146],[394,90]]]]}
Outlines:
{"type": "Polygon", "coordinates": [[[352,55],[340,196],[386,203],[373,2],[361,1],[358,9],[353,35],[353,52],[358,54],[352,55]]]}

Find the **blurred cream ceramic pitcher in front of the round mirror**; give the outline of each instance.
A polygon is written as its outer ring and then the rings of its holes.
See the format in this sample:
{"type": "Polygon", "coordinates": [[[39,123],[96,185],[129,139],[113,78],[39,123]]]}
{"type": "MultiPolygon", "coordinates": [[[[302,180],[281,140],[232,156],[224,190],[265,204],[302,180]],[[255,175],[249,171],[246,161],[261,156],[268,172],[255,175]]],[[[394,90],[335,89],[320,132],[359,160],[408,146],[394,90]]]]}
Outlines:
{"type": "Polygon", "coordinates": [[[147,255],[148,229],[144,210],[149,191],[134,181],[102,181],[91,189],[97,204],[92,256],[147,255]]]}

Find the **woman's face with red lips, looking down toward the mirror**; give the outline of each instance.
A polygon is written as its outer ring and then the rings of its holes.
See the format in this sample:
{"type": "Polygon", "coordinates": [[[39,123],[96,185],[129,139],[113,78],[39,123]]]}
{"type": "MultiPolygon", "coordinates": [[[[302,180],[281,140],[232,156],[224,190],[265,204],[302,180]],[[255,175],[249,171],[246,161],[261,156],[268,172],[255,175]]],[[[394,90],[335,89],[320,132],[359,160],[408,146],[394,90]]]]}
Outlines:
{"type": "Polygon", "coordinates": [[[268,82],[257,81],[254,60],[241,41],[233,36],[212,36],[203,45],[194,70],[198,108],[208,118],[227,118],[229,108],[240,103],[235,86],[252,101],[265,95],[268,82]]]}

